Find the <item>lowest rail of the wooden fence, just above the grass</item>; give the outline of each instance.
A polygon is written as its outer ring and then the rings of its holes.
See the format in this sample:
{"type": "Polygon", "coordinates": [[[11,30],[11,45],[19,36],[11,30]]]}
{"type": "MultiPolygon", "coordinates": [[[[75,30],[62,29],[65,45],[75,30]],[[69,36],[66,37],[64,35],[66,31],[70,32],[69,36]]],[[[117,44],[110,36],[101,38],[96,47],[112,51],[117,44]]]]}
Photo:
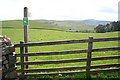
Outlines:
{"type": "MultiPolygon", "coordinates": [[[[114,69],[99,69],[99,70],[92,70],[90,73],[101,73],[101,72],[114,72],[118,71],[120,68],[114,69]]],[[[78,74],[78,73],[86,73],[86,71],[70,71],[70,72],[53,72],[53,73],[27,73],[25,76],[42,76],[42,75],[70,75],[70,74],[78,74]]]]}

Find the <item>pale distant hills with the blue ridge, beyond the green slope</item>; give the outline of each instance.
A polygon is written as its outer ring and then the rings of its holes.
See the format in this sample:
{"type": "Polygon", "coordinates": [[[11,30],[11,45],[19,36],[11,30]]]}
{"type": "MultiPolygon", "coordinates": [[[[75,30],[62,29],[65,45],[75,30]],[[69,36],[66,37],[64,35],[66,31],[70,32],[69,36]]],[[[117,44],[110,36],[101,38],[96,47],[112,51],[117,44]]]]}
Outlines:
{"type": "Polygon", "coordinates": [[[98,24],[106,24],[112,21],[104,21],[104,20],[95,20],[95,19],[87,19],[87,20],[35,20],[45,24],[56,25],[58,28],[62,28],[64,30],[88,30],[94,29],[98,24]]]}

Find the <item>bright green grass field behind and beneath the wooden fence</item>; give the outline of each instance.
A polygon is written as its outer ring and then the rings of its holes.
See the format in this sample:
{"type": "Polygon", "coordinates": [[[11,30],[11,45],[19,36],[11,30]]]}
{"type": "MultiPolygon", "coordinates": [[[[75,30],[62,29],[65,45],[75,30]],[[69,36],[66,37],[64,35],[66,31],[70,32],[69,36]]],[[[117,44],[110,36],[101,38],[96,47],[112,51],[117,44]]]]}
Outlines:
{"type": "MultiPolygon", "coordinates": [[[[11,24],[13,27],[13,24],[11,24]]],[[[35,24],[34,24],[35,25],[35,24]]],[[[21,25],[22,26],[22,25],[21,25]]],[[[8,24],[4,27],[9,27],[8,24]]],[[[37,26],[41,27],[41,25],[37,26]]],[[[52,26],[51,26],[52,27],[52,26]]],[[[109,38],[109,37],[118,37],[118,32],[108,32],[108,33],[73,33],[57,30],[47,30],[51,27],[46,27],[46,29],[29,29],[29,43],[32,42],[48,42],[48,41],[61,41],[61,40],[77,40],[77,39],[88,39],[89,36],[94,38],[109,38]]],[[[31,28],[31,27],[30,27],[31,28]]],[[[34,27],[35,28],[35,27],[34,27]]],[[[45,28],[45,27],[44,27],[45,28]]],[[[53,28],[53,27],[52,27],[53,28]]],[[[55,27],[56,28],[56,27],[55,27]]],[[[16,28],[3,28],[2,35],[7,35],[11,38],[13,44],[18,44],[20,41],[23,41],[23,29],[16,28]]],[[[41,47],[30,47],[29,52],[54,52],[54,51],[68,51],[68,50],[81,50],[87,49],[87,43],[77,43],[77,44],[63,44],[63,45],[52,45],[52,46],[41,46],[41,47]]],[[[93,43],[93,48],[104,48],[104,47],[116,47],[118,46],[118,41],[109,41],[109,42],[96,42],[93,43]]],[[[19,48],[16,49],[16,53],[19,54],[19,48]]],[[[105,52],[94,52],[92,57],[99,56],[112,56],[118,55],[118,51],[105,51],[105,52]]],[[[76,59],[76,58],[85,58],[87,57],[86,53],[82,54],[67,54],[67,55],[52,55],[52,56],[34,56],[29,57],[29,61],[49,61],[49,60],[61,60],[61,59],[76,59]]],[[[19,62],[19,58],[17,58],[19,62]]],[[[92,65],[98,64],[111,64],[118,63],[118,60],[102,60],[102,61],[93,61],[92,65]]],[[[64,66],[85,66],[86,62],[76,62],[76,63],[64,63],[64,64],[43,64],[43,65],[31,65],[29,68],[53,68],[53,67],[64,67],[64,66]]],[[[20,66],[18,66],[20,69],[20,66]]],[[[91,75],[92,78],[118,78],[118,73],[111,73],[107,75],[98,74],[91,75]],[[111,76],[110,76],[111,75],[111,76]],[[108,76],[108,77],[107,77],[108,76]]],[[[61,78],[84,78],[84,74],[76,74],[72,76],[62,76],[61,78]],[[82,75],[82,76],[80,76],[82,75]]],[[[52,76],[42,76],[39,78],[54,78],[52,76]]],[[[30,79],[29,79],[30,80],[30,79]]]]}

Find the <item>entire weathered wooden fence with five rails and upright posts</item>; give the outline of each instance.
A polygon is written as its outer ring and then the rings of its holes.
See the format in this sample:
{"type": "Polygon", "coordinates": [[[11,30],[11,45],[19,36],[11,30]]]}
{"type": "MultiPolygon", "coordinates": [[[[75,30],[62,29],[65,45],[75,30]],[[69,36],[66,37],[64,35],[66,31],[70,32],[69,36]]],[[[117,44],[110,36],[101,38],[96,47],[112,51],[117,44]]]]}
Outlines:
{"type": "Polygon", "coordinates": [[[16,57],[20,57],[21,61],[16,63],[20,65],[21,69],[17,70],[21,72],[22,76],[38,76],[38,75],[56,75],[56,74],[73,74],[73,73],[97,73],[97,72],[107,72],[107,71],[116,71],[120,70],[120,63],[116,64],[103,64],[103,65],[92,65],[91,61],[97,60],[108,60],[108,59],[120,59],[120,55],[117,56],[104,56],[104,57],[91,57],[92,52],[99,51],[115,51],[120,50],[120,47],[110,47],[110,48],[97,48],[93,49],[93,42],[105,42],[105,41],[119,41],[120,37],[116,38],[99,38],[83,40],[68,40],[68,41],[55,41],[55,42],[42,42],[42,43],[24,43],[15,44],[14,48],[20,47],[20,54],[16,54],[16,57]],[[58,51],[58,52],[40,52],[40,53],[24,53],[25,47],[30,46],[47,46],[47,45],[58,45],[58,44],[71,44],[71,43],[88,43],[88,49],[84,50],[72,50],[72,51],[58,51]],[[69,60],[55,60],[55,61],[34,61],[34,62],[25,62],[24,57],[26,56],[43,56],[43,55],[63,55],[63,54],[77,54],[77,53],[87,53],[87,58],[80,59],[69,59],[69,60]],[[24,65],[36,65],[36,64],[60,64],[60,63],[73,63],[73,62],[87,62],[86,66],[73,66],[73,67],[57,67],[57,68],[40,68],[40,69],[25,69],[24,65]],[[114,68],[110,68],[114,67],[114,68]],[[104,69],[96,69],[104,68],[104,69]],[[86,71],[70,71],[70,72],[51,72],[51,73],[30,73],[30,72],[42,72],[42,71],[59,71],[59,70],[73,70],[73,69],[86,69],[86,71]],[[96,70],[91,70],[96,69],[96,70]]]}

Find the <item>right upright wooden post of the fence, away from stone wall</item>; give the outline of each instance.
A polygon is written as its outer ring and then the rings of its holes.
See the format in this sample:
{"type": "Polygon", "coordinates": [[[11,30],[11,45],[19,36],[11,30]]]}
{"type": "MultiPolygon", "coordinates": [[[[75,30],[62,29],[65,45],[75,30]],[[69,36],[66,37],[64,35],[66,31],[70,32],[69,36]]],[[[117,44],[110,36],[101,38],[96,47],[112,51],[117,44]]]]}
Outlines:
{"type": "Polygon", "coordinates": [[[88,53],[87,53],[87,66],[86,66],[87,78],[90,78],[90,65],[91,65],[92,47],[93,47],[93,37],[89,37],[88,53]]]}

